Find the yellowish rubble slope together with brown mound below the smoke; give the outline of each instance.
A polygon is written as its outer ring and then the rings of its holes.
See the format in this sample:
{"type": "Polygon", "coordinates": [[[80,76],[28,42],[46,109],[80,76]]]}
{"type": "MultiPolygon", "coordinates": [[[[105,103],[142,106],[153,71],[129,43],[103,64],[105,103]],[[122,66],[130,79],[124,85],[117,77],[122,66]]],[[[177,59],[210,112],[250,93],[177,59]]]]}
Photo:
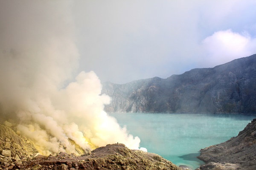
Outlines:
{"type": "Polygon", "coordinates": [[[0,170],[181,170],[163,157],[124,144],[108,144],[77,156],[42,156],[37,148],[11,128],[0,125],[0,170]]]}

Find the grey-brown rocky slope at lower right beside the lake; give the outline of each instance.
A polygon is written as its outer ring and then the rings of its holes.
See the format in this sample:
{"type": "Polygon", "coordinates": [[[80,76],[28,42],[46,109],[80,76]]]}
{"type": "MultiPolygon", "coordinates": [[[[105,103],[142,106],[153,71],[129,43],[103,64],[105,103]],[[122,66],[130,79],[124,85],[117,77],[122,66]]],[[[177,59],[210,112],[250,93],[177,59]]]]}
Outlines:
{"type": "MultiPolygon", "coordinates": [[[[256,119],[239,132],[238,136],[202,149],[198,158],[207,163],[200,170],[225,165],[239,170],[256,170],[256,119]]],[[[224,168],[220,168],[222,169],[224,168]]]]}

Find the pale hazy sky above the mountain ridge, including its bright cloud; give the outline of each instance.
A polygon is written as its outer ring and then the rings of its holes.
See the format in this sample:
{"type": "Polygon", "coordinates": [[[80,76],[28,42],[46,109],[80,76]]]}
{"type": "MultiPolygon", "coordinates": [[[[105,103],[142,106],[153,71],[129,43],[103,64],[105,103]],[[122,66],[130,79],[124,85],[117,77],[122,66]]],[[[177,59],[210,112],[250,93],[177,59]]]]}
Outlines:
{"type": "MultiPolygon", "coordinates": [[[[12,15],[19,9],[13,2],[12,15]]],[[[74,75],[94,71],[101,82],[122,84],[167,78],[256,53],[256,0],[49,2],[56,11],[62,8],[61,3],[70,8],[68,14],[56,17],[51,24],[58,25],[63,18],[70,22],[61,30],[71,30],[80,55],[74,75]]],[[[41,14],[51,17],[47,9],[41,10],[41,14]]],[[[38,17],[38,23],[29,23],[29,15],[21,15],[20,22],[25,20],[27,27],[44,31],[39,26],[47,20],[38,17]]],[[[13,24],[9,16],[2,18],[13,24]]],[[[28,29],[24,30],[29,34],[28,29]]]]}

